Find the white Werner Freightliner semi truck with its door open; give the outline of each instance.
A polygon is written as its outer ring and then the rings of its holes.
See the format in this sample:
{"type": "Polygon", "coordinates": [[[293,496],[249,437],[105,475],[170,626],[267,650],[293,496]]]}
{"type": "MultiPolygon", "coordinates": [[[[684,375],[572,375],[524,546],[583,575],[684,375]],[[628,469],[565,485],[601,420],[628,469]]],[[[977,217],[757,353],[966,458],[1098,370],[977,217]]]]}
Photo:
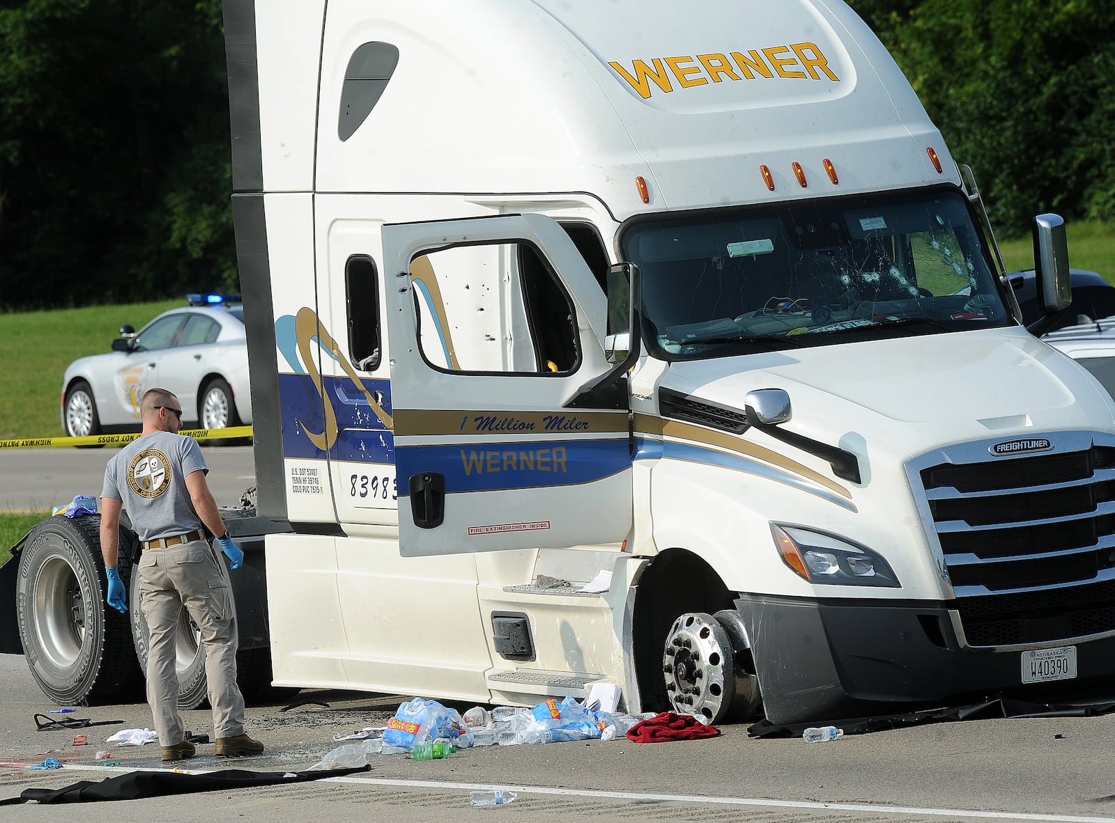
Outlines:
{"type": "MultiPolygon", "coordinates": [[[[843,2],[225,0],[225,29],[249,674],[775,723],[1111,684],[1112,399],[1020,324],[843,2]]],[[[1059,218],[1035,249],[1055,316],[1059,218]]],[[[107,694],[130,649],[59,520],[20,639],[48,694],[107,694]]]]}

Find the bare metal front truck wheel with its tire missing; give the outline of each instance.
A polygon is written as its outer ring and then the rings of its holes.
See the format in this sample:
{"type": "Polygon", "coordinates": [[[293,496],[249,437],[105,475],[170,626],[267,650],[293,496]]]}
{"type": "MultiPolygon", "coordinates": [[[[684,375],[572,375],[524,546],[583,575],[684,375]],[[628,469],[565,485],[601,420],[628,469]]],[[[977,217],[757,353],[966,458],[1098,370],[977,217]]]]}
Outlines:
{"type": "Polygon", "coordinates": [[[666,637],[662,673],[678,714],[720,723],[728,717],[748,717],[759,706],[758,679],[737,664],[725,627],[702,611],[673,621],[666,637]]]}

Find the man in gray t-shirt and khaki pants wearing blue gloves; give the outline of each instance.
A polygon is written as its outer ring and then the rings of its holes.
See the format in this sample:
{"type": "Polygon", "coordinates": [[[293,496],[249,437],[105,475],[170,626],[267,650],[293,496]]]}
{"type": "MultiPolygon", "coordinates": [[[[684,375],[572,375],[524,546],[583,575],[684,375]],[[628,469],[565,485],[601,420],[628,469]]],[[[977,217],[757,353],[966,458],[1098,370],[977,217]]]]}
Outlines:
{"type": "Polygon", "coordinates": [[[229,572],[209,542],[206,529],[240,568],[244,552],[229,530],[209,490],[209,467],[197,441],[178,434],[182,405],[165,389],[151,389],[139,401],[143,433],[105,469],[100,492],[100,551],[108,577],[108,605],[127,611],[119,560],[120,511],[126,510],[143,546],[138,567],[139,607],[151,636],[147,702],[164,761],[194,756],[178,715],[175,639],[182,607],[197,625],[205,649],[205,676],[213,706],[215,754],[259,754],[263,744],[244,734],[244,698],[236,686],[236,608],[229,572]]]}

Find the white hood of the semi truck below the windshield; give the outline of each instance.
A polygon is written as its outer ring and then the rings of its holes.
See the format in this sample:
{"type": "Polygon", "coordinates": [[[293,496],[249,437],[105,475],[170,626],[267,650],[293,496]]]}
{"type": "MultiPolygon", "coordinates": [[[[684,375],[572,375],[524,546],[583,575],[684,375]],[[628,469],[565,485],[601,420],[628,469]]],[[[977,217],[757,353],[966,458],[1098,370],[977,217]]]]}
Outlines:
{"type": "Polygon", "coordinates": [[[1024,329],[937,334],[671,364],[663,388],[734,409],[784,389],[786,425],[830,442],[850,432],[909,452],[1039,430],[1111,430],[1111,396],[1024,329]]]}

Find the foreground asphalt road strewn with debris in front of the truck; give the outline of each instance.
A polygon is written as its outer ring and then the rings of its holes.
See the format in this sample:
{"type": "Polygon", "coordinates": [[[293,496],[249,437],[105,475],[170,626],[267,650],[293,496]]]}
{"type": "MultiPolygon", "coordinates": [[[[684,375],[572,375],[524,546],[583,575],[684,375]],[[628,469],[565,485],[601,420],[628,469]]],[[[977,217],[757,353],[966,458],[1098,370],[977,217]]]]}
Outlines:
{"type": "MultiPolygon", "coordinates": [[[[191,770],[307,770],[339,745],[333,735],[381,726],[400,696],[302,692],[282,702],[250,706],[249,732],[268,749],[260,757],[223,761],[212,746],[180,764],[191,770]],[[283,711],[299,700],[319,700],[283,711]]],[[[122,728],[151,726],[143,703],[49,714],[21,657],[0,656],[0,798],[26,787],[61,787],[133,770],[162,768],[158,749],[110,748],[122,728]],[[123,724],[86,729],[37,731],[35,713],[123,724]],[[74,746],[87,734],[90,745],[74,746]],[[112,751],[119,766],[105,767],[95,751],[112,751]],[[52,756],[65,765],[41,772],[30,764],[52,756]]],[[[458,706],[460,711],[467,706],[458,706]]],[[[210,733],[210,713],[185,713],[187,726],[210,733]]],[[[747,736],[743,725],[719,737],[636,744],[552,743],[462,749],[444,761],[374,756],[371,768],[327,782],[222,790],[173,798],[136,800],[97,807],[17,806],[6,820],[113,821],[482,820],[502,814],[521,821],[1065,821],[1115,822],[1112,741],[1115,716],[968,721],[845,736],[831,743],[747,736]],[[472,788],[517,793],[506,807],[471,809],[472,788]],[[514,810],[514,811],[512,811],[514,810]]]]}

